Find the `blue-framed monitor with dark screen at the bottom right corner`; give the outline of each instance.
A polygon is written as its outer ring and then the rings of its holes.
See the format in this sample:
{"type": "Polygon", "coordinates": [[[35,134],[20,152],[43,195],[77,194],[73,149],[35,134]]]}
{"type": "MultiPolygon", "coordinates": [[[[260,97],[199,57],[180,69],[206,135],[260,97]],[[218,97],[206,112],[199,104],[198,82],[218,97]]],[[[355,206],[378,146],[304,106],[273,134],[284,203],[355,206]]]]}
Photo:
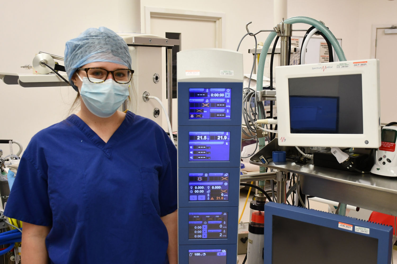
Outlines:
{"type": "Polygon", "coordinates": [[[284,203],[264,207],[264,264],[391,262],[392,226],[284,203]]]}

